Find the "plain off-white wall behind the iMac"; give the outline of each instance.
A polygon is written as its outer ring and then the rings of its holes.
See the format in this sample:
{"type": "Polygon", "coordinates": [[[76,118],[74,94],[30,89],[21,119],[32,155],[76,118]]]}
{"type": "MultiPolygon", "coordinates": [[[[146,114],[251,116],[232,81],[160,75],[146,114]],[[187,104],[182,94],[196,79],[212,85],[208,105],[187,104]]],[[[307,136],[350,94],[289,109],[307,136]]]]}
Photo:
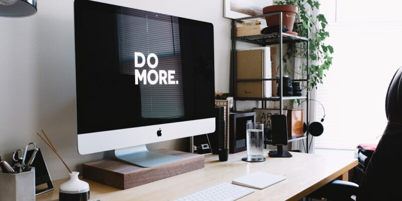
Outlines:
{"type": "MultiPolygon", "coordinates": [[[[229,90],[230,20],[223,1],[118,0],[99,1],[214,24],[215,86],[229,90]]],[[[42,148],[53,180],[66,178],[57,156],[36,136],[44,129],[67,164],[81,170],[83,162],[110,152],[79,155],[76,143],[74,18],[72,0],[38,0],[38,13],[28,18],[0,17],[0,156],[31,141],[42,148]]],[[[187,149],[188,140],[162,142],[151,148],[187,149]]]]}

